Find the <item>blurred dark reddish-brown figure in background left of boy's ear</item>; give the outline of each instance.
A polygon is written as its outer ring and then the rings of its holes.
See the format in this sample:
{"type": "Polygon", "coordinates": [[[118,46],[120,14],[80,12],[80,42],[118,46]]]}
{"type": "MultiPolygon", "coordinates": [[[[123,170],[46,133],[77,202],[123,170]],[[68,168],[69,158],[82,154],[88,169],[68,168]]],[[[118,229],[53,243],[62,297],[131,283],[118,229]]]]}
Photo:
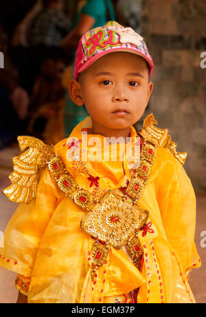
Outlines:
{"type": "Polygon", "coordinates": [[[41,63],[41,70],[32,91],[28,133],[47,144],[56,144],[64,139],[64,69],[64,60],[58,55],[55,57],[51,52],[41,63]]]}

